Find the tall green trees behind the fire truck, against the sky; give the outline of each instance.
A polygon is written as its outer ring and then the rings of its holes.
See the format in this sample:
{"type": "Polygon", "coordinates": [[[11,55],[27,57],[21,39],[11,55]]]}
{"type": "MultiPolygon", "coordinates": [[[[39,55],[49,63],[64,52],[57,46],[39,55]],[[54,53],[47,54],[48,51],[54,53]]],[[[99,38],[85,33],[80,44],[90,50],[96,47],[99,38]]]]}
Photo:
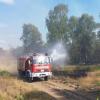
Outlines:
{"type": "Polygon", "coordinates": [[[70,64],[100,63],[100,23],[89,14],[69,17],[68,12],[65,4],[59,4],[49,11],[45,19],[47,43],[43,42],[35,25],[24,24],[21,37],[24,52],[41,52],[61,41],[69,53],[70,64]]]}

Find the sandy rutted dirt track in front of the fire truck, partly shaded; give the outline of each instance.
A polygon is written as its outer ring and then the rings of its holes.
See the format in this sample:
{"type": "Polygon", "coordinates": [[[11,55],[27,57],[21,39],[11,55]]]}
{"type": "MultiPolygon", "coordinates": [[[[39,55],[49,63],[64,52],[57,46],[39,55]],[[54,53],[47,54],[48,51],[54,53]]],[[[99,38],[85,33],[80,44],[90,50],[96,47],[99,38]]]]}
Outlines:
{"type": "Polygon", "coordinates": [[[40,91],[46,92],[57,100],[96,100],[95,95],[75,89],[75,86],[66,86],[53,80],[48,82],[33,82],[32,86],[40,91]]]}

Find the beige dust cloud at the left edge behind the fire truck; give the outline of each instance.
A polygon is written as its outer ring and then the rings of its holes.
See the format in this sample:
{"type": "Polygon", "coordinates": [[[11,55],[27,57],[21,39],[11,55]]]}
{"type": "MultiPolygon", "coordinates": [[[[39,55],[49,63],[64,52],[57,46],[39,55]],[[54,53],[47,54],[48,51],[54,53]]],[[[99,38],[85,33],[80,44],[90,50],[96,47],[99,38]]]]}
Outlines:
{"type": "Polygon", "coordinates": [[[12,74],[17,73],[16,58],[9,51],[0,51],[0,70],[5,70],[12,74]]]}

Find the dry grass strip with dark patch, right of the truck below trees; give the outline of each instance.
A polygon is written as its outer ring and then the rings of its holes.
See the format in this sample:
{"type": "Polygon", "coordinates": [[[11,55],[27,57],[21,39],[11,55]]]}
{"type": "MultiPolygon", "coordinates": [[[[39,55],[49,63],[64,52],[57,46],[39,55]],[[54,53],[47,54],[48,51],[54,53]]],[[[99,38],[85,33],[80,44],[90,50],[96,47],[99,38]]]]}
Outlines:
{"type": "MultiPolygon", "coordinates": [[[[61,80],[64,84],[73,84],[79,85],[82,89],[91,89],[100,87],[100,67],[96,65],[87,65],[87,66],[66,66],[63,68],[64,72],[56,73],[57,80],[61,80]],[[74,77],[74,71],[80,72],[80,70],[86,70],[86,76],[74,77]],[[89,70],[88,70],[89,69],[89,70]],[[71,75],[67,75],[66,73],[71,73],[71,75]]],[[[58,72],[58,71],[57,71],[58,72]]],[[[100,89],[100,88],[99,88],[100,89]]]]}

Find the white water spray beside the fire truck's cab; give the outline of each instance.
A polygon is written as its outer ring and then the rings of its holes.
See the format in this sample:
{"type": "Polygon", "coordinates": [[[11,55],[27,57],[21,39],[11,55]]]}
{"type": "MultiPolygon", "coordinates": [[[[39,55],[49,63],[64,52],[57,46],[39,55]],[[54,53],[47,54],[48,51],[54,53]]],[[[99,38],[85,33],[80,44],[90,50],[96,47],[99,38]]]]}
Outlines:
{"type": "Polygon", "coordinates": [[[69,59],[67,50],[62,42],[56,43],[53,46],[50,56],[57,65],[65,65],[69,59]]]}

